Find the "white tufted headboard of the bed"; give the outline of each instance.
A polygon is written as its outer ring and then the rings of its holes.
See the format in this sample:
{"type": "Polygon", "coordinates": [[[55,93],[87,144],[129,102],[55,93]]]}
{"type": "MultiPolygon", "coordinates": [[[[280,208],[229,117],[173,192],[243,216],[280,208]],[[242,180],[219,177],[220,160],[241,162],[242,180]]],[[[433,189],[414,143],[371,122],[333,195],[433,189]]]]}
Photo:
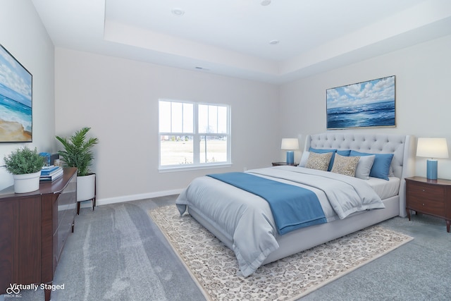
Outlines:
{"type": "Polygon", "coordinates": [[[307,135],[305,151],[315,149],[353,149],[358,152],[393,154],[393,174],[401,179],[400,216],[406,216],[404,178],[414,176],[414,137],[410,135],[323,133],[307,135]]]}

